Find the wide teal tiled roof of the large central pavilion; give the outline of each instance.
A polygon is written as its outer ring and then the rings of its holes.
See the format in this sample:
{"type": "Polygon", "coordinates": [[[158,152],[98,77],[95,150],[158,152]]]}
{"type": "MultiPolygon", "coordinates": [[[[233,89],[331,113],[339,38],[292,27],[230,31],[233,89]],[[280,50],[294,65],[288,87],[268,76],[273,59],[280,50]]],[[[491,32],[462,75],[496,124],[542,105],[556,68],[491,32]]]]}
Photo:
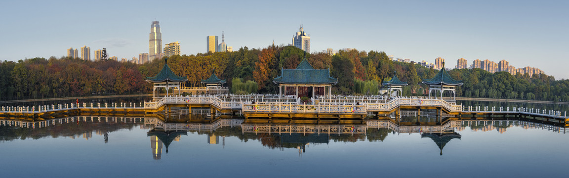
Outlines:
{"type": "Polygon", "coordinates": [[[277,84],[336,84],[329,69],[314,69],[305,59],[295,69],[281,69],[281,76],[273,79],[277,84]]]}

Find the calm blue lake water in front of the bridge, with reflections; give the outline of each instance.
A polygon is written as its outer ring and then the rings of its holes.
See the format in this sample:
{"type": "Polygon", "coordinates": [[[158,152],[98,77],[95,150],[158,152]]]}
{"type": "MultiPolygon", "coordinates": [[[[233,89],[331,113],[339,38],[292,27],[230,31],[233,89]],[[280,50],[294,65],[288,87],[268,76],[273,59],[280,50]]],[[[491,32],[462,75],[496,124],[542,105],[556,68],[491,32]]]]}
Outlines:
{"type": "Polygon", "coordinates": [[[569,131],[511,120],[329,135],[196,124],[164,132],[156,118],[59,121],[0,126],[2,177],[567,177],[569,166],[569,131]]]}

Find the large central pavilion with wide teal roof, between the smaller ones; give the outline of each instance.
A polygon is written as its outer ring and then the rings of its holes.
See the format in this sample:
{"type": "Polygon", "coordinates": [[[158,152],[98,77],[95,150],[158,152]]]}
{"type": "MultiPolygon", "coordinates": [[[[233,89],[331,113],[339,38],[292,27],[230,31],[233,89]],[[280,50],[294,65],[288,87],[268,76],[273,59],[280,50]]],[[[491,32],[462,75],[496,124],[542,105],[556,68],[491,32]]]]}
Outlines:
{"type": "Polygon", "coordinates": [[[314,69],[304,58],[295,69],[281,68],[281,76],[274,78],[273,82],[279,85],[279,98],[315,98],[326,95],[331,98],[332,84],[338,83],[338,79],[330,76],[329,69],[314,69]]]}

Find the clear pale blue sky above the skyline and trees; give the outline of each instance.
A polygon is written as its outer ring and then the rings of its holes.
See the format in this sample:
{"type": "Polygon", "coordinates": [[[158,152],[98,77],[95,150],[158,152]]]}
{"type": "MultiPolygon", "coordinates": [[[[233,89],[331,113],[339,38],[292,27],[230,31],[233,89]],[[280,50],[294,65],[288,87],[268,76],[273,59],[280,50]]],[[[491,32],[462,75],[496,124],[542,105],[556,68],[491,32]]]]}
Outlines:
{"type": "Polygon", "coordinates": [[[508,60],[569,79],[569,1],[2,1],[0,60],[67,56],[106,48],[119,59],[149,52],[152,21],[163,46],[206,52],[206,37],[263,48],[292,43],[304,27],[311,52],[385,51],[453,68],[465,58],[508,60]]]}

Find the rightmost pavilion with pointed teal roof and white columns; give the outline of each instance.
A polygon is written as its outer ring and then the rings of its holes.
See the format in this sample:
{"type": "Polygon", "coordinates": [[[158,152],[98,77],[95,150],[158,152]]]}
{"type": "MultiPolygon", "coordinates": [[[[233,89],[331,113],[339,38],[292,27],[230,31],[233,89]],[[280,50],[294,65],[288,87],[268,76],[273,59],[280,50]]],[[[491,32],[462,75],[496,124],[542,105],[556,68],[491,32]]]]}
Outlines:
{"type": "Polygon", "coordinates": [[[463,84],[462,80],[455,80],[452,79],[448,72],[444,69],[444,62],[443,68],[435,75],[432,79],[423,79],[424,84],[428,84],[428,96],[431,98],[431,91],[440,91],[440,98],[443,98],[444,91],[450,91],[451,99],[454,95],[454,100],[456,100],[456,86],[461,86],[463,84]]]}

